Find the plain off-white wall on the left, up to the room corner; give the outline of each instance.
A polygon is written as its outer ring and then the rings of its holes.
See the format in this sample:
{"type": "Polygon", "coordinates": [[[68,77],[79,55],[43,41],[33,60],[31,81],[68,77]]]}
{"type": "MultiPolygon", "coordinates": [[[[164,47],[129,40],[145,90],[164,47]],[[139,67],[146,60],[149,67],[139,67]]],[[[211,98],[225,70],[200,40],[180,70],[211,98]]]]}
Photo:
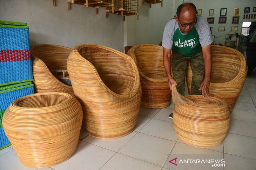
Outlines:
{"type": "Polygon", "coordinates": [[[67,0],[1,1],[0,20],[25,22],[29,26],[31,45],[56,44],[73,48],[79,44],[99,44],[124,51],[123,17],[106,9],[71,4],[67,0]]]}

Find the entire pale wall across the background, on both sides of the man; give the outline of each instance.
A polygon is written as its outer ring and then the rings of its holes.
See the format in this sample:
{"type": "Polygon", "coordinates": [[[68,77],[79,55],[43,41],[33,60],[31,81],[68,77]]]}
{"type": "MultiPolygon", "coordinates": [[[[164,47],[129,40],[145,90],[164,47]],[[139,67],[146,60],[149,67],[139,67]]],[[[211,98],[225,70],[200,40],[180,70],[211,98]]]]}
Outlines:
{"type": "MultiPolygon", "coordinates": [[[[106,18],[105,8],[99,9],[96,15],[95,9],[82,5],[71,4],[71,10],[67,9],[67,0],[56,0],[57,6],[53,6],[52,0],[8,0],[1,1],[0,20],[26,22],[29,26],[31,45],[57,44],[74,47],[83,43],[105,45],[124,52],[124,46],[143,43],[159,44],[162,41],[163,29],[166,23],[173,18],[177,7],[183,0],[163,0],[161,4],[148,3],[142,5],[139,0],[139,20],[136,16],[127,16],[126,21],[120,15],[109,14],[106,18]]],[[[230,32],[234,8],[240,9],[240,22],[243,19],[244,7],[256,6],[255,0],[184,0],[192,2],[197,9],[202,9],[202,16],[209,16],[209,9],[214,9],[215,22],[213,27],[215,43],[224,44],[224,35],[230,32]],[[227,9],[227,23],[218,24],[220,9],[227,9]],[[225,31],[218,31],[218,27],[224,26],[225,31]]],[[[256,21],[245,19],[243,21],[256,21]]],[[[238,25],[238,34],[241,34],[242,22],[238,25]]]]}

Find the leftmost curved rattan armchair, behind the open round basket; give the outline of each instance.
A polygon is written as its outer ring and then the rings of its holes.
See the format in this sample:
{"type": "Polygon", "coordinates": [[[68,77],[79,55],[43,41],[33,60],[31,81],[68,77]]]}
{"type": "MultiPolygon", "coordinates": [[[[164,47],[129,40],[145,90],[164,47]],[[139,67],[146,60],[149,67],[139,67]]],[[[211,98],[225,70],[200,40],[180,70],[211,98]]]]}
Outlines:
{"type": "Polygon", "coordinates": [[[69,86],[53,75],[53,71],[67,69],[67,58],[72,49],[59,45],[41,44],[31,47],[35,90],[42,92],[64,92],[74,96],[69,86]]]}

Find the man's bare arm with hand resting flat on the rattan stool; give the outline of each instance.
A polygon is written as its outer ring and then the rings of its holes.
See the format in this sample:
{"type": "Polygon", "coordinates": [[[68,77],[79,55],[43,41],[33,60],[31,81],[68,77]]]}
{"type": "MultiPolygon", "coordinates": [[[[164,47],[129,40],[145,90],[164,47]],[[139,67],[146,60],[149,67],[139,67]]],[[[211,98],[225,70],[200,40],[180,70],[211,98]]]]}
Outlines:
{"type": "Polygon", "coordinates": [[[210,87],[210,76],[211,76],[211,44],[202,47],[203,51],[203,59],[204,59],[204,80],[201,84],[200,90],[202,90],[202,96],[206,95],[207,97],[211,97],[209,95],[209,87],[210,87]]]}

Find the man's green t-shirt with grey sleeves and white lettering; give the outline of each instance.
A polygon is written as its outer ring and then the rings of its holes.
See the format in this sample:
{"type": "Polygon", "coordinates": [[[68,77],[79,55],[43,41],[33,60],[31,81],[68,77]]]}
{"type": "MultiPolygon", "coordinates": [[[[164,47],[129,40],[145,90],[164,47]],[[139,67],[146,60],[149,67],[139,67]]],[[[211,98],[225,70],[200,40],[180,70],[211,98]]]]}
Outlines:
{"type": "Polygon", "coordinates": [[[197,23],[187,34],[183,34],[175,19],[171,19],[164,28],[162,46],[191,57],[212,42],[208,22],[197,16],[197,23]]]}

